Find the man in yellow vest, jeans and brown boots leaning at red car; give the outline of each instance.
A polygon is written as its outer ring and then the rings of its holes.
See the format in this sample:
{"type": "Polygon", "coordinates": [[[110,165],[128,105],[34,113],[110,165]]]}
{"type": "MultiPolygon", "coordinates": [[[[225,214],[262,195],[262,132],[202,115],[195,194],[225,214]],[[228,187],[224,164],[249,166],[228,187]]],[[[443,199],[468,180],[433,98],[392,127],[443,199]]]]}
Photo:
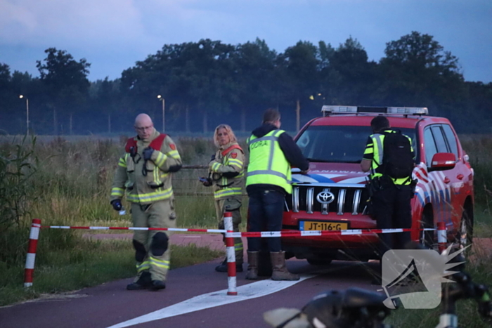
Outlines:
{"type": "MultiPolygon", "coordinates": [[[[280,130],[280,112],[268,109],[263,125],[252,132],[247,140],[250,164],[247,167],[246,191],[250,196],[248,231],[259,232],[282,228],[285,195],[292,193],[291,168],[297,166],[302,173],[309,170],[309,162],[299,147],[285,131],[280,130]]],[[[272,265],[272,280],[299,280],[299,275],[285,267],[285,252],[280,237],[268,237],[272,265]]],[[[247,238],[248,268],[246,279],[258,279],[260,238],[247,238]]]]}

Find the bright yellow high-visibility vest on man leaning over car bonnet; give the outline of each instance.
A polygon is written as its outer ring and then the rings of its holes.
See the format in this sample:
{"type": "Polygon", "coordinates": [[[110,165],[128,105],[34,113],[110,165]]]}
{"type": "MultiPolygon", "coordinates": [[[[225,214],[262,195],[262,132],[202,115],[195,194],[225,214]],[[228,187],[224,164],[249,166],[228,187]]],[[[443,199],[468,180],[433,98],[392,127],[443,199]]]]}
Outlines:
{"type": "Polygon", "coordinates": [[[250,164],[247,166],[246,186],[256,184],[278,185],[292,193],[290,164],[278,143],[283,130],[273,130],[258,138],[250,136],[250,164]]]}

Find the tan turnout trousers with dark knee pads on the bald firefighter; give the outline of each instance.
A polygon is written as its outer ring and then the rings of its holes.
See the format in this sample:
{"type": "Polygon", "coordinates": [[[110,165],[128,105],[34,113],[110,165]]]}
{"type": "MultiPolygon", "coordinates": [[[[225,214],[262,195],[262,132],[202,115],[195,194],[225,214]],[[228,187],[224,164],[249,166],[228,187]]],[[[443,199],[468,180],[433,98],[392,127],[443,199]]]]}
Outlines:
{"type": "MultiPolygon", "coordinates": [[[[165,199],[151,204],[131,203],[131,217],[134,227],[176,228],[174,199],[165,199]]],[[[135,230],[134,248],[137,276],[148,271],[152,280],[166,280],[171,251],[169,250],[170,231],[135,230]]]]}

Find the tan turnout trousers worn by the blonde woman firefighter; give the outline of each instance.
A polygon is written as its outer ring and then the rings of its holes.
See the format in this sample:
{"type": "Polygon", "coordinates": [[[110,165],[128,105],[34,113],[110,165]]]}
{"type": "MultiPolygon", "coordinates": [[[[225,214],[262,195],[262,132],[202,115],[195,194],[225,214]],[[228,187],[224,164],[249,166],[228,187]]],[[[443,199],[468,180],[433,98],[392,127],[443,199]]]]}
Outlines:
{"type": "MultiPolygon", "coordinates": [[[[215,211],[217,215],[219,229],[224,229],[224,212],[228,211],[233,214],[233,231],[239,232],[239,224],[241,223],[241,199],[239,197],[218,199],[215,201],[215,211]]],[[[241,238],[234,238],[235,263],[243,263],[244,247],[242,246],[241,238]]]]}

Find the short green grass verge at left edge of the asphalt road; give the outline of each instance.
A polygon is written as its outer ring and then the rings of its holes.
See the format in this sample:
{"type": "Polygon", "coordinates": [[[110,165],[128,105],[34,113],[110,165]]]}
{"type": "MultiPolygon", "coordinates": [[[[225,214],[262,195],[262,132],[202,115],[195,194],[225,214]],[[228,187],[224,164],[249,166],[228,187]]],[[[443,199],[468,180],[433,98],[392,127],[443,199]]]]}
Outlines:
{"type": "MultiPolygon", "coordinates": [[[[224,252],[190,244],[171,245],[171,254],[173,270],[210,261],[224,255],[224,252]]],[[[169,274],[172,275],[172,271],[169,274]]],[[[0,306],[37,299],[42,294],[75,291],[134,275],[134,249],[131,241],[77,238],[77,246],[70,251],[39,251],[34,284],[30,289],[23,287],[23,265],[0,266],[0,306]]]]}

